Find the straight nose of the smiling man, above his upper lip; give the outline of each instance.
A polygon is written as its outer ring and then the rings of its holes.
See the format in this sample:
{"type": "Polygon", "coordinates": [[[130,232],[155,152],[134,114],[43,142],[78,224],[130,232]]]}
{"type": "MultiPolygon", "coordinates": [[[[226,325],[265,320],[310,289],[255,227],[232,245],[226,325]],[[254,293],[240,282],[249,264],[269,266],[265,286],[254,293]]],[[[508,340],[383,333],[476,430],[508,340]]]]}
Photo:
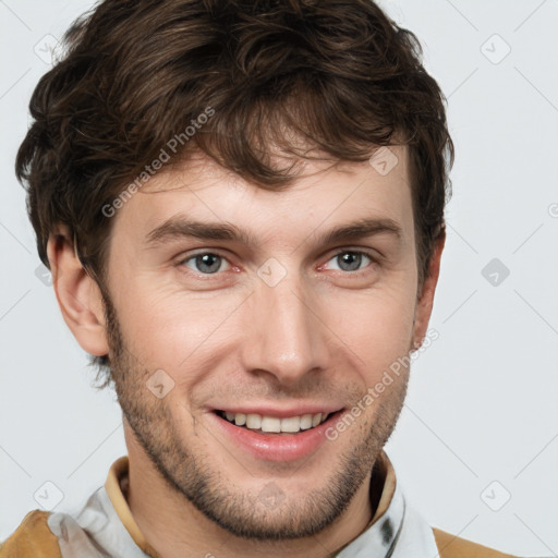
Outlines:
{"type": "Polygon", "coordinates": [[[244,316],[244,369],[271,375],[284,386],[326,369],[330,359],[319,301],[293,275],[275,287],[256,281],[244,316]]]}

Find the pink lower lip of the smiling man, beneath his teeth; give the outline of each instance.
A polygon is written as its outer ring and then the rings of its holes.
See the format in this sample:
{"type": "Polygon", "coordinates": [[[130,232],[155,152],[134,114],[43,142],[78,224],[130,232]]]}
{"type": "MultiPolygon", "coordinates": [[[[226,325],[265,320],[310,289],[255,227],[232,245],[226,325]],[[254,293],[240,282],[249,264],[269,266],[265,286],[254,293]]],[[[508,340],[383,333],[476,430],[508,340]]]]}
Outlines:
{"type": "Polygon", "coordinates": [[[337,422],[342,411],[331,414],[319,426],[298,434],[260,434],[235,426],[217,413],[209,413],[218,428],[233,442],[256,459],[266,461],[294,461],[310,456],[327,441],[326,430],[337,422]]]}

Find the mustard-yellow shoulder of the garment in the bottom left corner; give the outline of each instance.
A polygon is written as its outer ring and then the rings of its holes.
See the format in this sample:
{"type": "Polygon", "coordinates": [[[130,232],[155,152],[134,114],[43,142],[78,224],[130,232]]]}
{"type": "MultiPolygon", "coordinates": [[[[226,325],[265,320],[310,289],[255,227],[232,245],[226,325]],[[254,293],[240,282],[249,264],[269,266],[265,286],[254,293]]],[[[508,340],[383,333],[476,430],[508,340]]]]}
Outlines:
{"type": "Polygon", "coordinates": [[[49,512],[33,510],[2,543],[0,558],[61,558],[58,537],[50,531],[49,512]]]}

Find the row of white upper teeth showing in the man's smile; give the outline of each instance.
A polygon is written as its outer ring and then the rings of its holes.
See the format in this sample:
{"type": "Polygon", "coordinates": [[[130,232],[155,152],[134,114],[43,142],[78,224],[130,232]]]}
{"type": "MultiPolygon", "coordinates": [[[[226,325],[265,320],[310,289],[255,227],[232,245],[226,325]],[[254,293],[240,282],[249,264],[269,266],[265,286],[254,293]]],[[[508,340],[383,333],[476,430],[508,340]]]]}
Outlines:
{"type": "Polygon", "coordinates": [[[257,434],[279,436],[290,436],[305,430],[312,430],[324,424],[331,415],[337,414],[336,412],[322,412],[278,417],[257,413],[233,413],[230,411],[219,410],[214,412],[220,418],[240,428],[252,430],[257,434]]]}

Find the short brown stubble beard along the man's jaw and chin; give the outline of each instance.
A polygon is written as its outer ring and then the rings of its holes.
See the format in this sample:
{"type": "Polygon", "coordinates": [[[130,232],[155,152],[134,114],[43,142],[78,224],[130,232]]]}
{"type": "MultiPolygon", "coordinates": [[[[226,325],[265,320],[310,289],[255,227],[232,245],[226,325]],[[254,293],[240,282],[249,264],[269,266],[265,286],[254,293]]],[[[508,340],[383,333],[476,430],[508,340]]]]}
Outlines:
{"type": "MultiPolygon", "coordinates": [[[[393,391],[389,399],[377,402],[373,424],[355,422],[339,436],[342,440],[343,436],[360,430],[360,436],[353,435],[359,441],[335,458],[337,464],[330,468],[332,470],[322,487],[304,496],[299,490],[286,494],[280,505],[267,507],[257,493],[231,489],[210,456],[183,442],[184,437],[177,430],[177,420],[169,404],[165,399],[157,399],[146,387],[154,371],[146,369],[130,352],[114,306],[106,293],[104,300],[110,368],[118,401],[138,444],[173,492],[228,533],[252,541],[310,537],[340,518],[393,430],[407,393],[407,376],[391,385],[393,391]]],[[[204,432],[210,436],[198,425],[198,435],[203,436],[204,432]]],[[[335,444],[337,441],[326,441],[318,452],[331,454],[335,444]]],[[[319,459],[319,456],[315,453],[308,459],[315,458],[319,459]]],[[[263,482],[262,488],[267,483],[263,482]]],[[[280,480],[275,482],[276,486],[280,484],[280,480]]]]}

